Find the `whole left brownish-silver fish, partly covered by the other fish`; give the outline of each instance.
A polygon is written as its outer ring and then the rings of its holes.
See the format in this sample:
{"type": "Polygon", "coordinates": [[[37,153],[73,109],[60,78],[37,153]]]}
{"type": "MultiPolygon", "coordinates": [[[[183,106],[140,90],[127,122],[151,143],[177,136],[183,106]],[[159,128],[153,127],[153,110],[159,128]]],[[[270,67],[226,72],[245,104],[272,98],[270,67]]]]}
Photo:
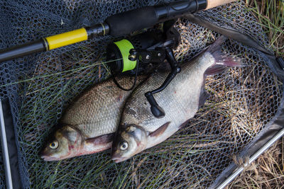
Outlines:
{"type": "MultiPolygon", "coordinates": [[[[138,76],[136,84],[145,78],[138,76]]],[[[117,80],[126,88],[133,84],[129,77],[117,80]]],[[[40,152],[41,158],[58,161],[109,149],[130,93],[119,89],[111,79],[89,88],[67,108],[58,129],[50,134],[40,152]]]]}

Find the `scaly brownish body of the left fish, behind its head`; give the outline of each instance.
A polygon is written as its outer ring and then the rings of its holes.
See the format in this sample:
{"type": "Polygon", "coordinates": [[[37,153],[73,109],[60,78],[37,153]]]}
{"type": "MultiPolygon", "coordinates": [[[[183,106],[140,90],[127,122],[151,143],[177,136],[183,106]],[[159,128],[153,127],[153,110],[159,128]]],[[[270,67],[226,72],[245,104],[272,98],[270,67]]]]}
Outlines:
{"type": "MultiPolygon", "coordinates": [[[[138,77],[138,82],[143,78],[138,77]]],[[[129,88],[133,79],[122,77],[119,84],[129,88]]],[[[66,110],[60,122],[74,125],[86,138],[97,137],[116,131],[119,123],[119,114],[126,96],[131,91],[123,91],[112,80],[90,88],[80,98],[75,100],[66,110]]]]}

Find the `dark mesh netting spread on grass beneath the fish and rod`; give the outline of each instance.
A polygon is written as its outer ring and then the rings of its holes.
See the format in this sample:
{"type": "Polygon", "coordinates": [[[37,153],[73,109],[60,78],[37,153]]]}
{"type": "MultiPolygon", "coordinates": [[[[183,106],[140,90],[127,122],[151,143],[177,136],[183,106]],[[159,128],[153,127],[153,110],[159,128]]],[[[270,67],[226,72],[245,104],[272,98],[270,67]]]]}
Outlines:
{"type": "MultiPolygon", "coordinates": [[[[1,48],[104,21],[107,16],[164,1],[0,1],[1,48]]],[[[268,47],[256,19],[243,2],[198,13],[234,28],[268,47]]],[[[175,56],[186,62],[219,37],[181,18],[175,56]]],[[[107,79],[105,49],[112,39],[95,38],[50,52],[0,64],[1,98],[9,97],[17,138],[23,188],[172,188],[209,187],[233,156],[252,144],[277,113],[283,83],[261,54],[234,40],[224,51],[246,67],[206,79],[207,103],[184,129],[165,142],[115,164],[110,151],[55,162],[38,152],[62,111],[75,96],[107,79]]],[[[4,166],[0,166],[4,186],[4,166]]]]}

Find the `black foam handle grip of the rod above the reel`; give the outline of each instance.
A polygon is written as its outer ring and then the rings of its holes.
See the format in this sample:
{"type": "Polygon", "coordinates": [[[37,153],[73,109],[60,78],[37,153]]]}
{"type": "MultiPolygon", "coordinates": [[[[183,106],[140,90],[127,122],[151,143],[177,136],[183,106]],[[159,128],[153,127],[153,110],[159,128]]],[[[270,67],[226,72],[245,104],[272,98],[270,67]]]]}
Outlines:
{"type": "Polygon", "coordinates": [[[206,0],[174,1],[170,4],[146,6],[118,13],[109,16],[105,22],[109,25],[109,34],[117,38],[143,28],[150,28],[156,23],[179,18],[186,13],[204,10],[206,7],[206,0]]]}

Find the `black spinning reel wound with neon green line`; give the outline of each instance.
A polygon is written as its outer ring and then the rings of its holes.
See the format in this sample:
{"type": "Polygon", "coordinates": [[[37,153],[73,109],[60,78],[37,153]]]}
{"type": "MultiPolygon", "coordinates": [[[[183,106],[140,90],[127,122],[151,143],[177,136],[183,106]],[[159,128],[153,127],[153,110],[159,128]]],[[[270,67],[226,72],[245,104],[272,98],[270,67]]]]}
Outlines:
{"type": "Polygon", "coordinates": [[[153,94],[163,91],[180,72],[180,67],[173,53],[173,48],[177,47],[180,42],[180,33],[172,27],[173,23],[174,21],[165,22],[163,33],[141,33],[127,40],[111,43],[107,47],[107,61],[109,61],[111,74],[114,75],[114,83],[126,91],[133,89],[138,74],[151,74],[157,71],[160,64],[165,60],[170,64],[170,74],[163,81],[163,84],[159,88],[145,93],[151,105],[151,112],[156,118],[163,118],[165,111],[155,101],[153,94]],[[135,75],[133,86],[128,89],[120,86],[115,79],[116,76],[125,74],[135,75]]]}

